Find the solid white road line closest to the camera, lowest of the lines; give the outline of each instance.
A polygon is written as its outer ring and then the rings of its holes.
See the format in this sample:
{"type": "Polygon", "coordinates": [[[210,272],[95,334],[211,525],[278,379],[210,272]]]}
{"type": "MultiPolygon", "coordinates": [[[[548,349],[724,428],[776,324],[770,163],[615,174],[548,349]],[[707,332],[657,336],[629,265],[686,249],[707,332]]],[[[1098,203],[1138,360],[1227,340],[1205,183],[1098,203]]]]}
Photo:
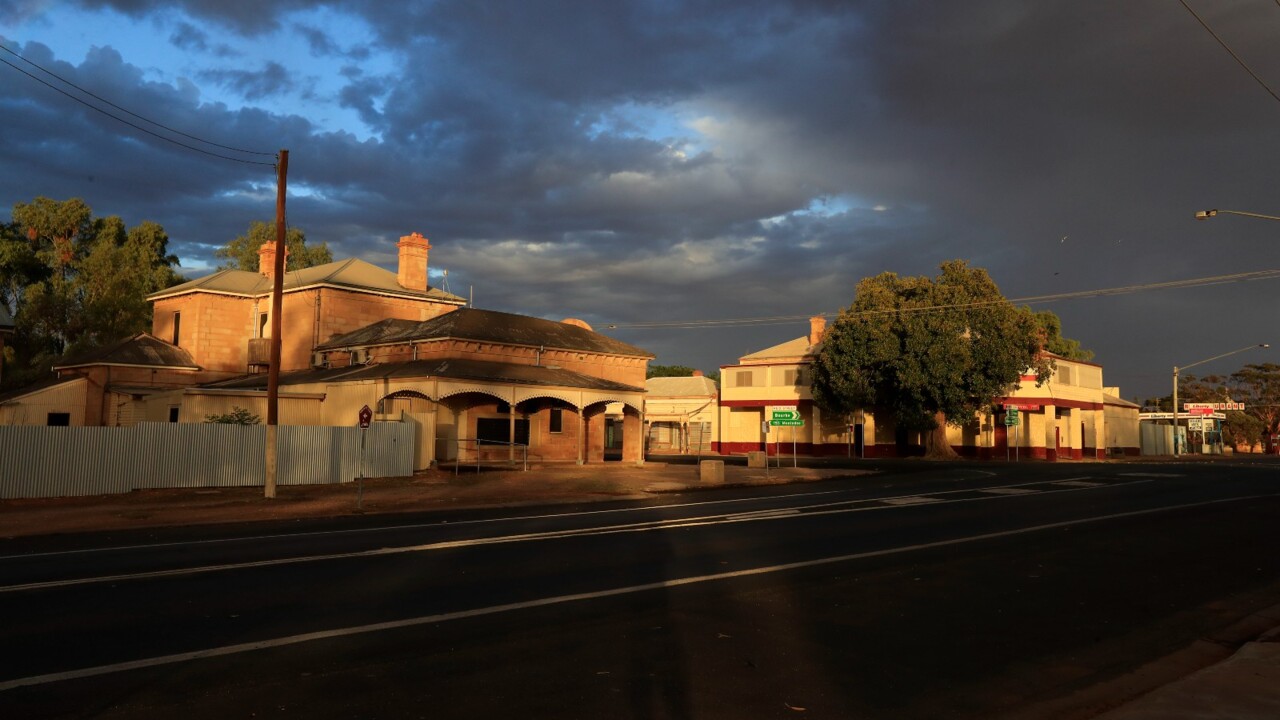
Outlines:
{"type": "Polygon", "coordinates": [[[716,573],[710,575],[695,575],[690,578],[676,578],[673,580],[663,580],[658,583],[645,583],[639,585],[627,585],[621,588],[612,588],[607,591],[595,591],[585,593],[573,593],[557,597],[545,597],[539,600],[530,600],[524,602],[512,602],[507,605],[494,605],[490,607],[477,607],[472,610],[461,610],[454,612],[443,612],[438,615],[425,615],[421,618],[408,618],[403,620],[390,620],[387,623],[372,623],[367,625],[355,625],[351,628],[338,628],[333,630],[319,630],[314,633],[303,633],[297,635],[285,635],[280,638],[271,638],[265,641],[256,641],[239,644],[229,644],[206,650],[197,650],[192,652],[179,652],[173,655],[163,655],[157,657],[146,657],[142,660],[132,660],[127,662],[116,662],[113,665],[99,665],[96,667],[82,667],[78,670],[68,670],[63,673],[47,673],[44,675],[32,675],[29,678],[15,678],[13,680],[0,682],[0,692],[10,691],[14,688],[31,687],[31,685],[44,685],[50,683],[58,683],[64,680],[76,680],[82,678],[93,678],[99,675],[108,675],[113,673],[124,673],[128,670],[141,670],[146,667],[157,667],[163,665],[173,665],[178,662],[189,662],[193,660],[205,660],[210,657],[223,657],[228,655],[238,655],[243,652],[253,652],[257,650],[269,650],[278,647],[288,647],[293,644],[301,644],[315,641],[346,638],[353,635],[361,635],[367,633],[378,633],[383,630],[394,630],[403,628],[413,628],[420,625],[431,625],[438,623],[448,623],[453,620],[465,620],[470,618],[481,618],[485,615],[497,615],[500,612],[512,612],[517,610],[529,610],[534,607],[547,607],[552,605],[563,605],[567,602],[579,602],[585,600],[600,600],[605,597],[616,597],[621,594],[631,594],[639,592],[648,592],[654,589],[671,589],[685,585],[694,585],[700,583],[728,580],[735,578],[746,578],[751,575],[764,575],[772,573],[782,573],[787,570],[800,570],[805,568],[818,568],[822,565],[831,565],[837,562],[850,562],[854,560],[865,560],[870,557],[883,557],[888,555],[899,555],[904,552],[915,552],[920,550],[932,550],[938,547],[948,547],[955,544],[965,544],[970,542],[982,542],[988,539],[1006,538],[1020,534],[1036,533],[1041,530],[1051,530],[1056,528],[1069,528],[1074,525],[1085,525],[1092,523],[1102,523],[1107,520],[1116,520],[1121,518],[1137,518],[1142,515],[1152,515],[1157,512],[1166,512],[1171,510],[1185,510],[1189,507],[1206,507],[1210,505],[1219,505],[1226,502],[1238,502],[1243,500],[1261,500],[1261,498],[1275,498],[1280,497],[1280,493],[1270,495],[1252,495],[1243,497],[1229,497],[1219,500],[1207,500],[1202,502],[1188,502],[1183,505],[1170,505],[1165,507],[1148,507],[1146,510],[1133,510],[1129,512],[1114,512],[1110,515],[1098,515],[1096,518],[1083,518],[1076,520],[1064,520],[1060,523],[1047,523],[1043,525],[1032,525],[1029,528],[1019,528],[1014,530],[1000,530],[995,533],[982,533],[978,536],[969,536],[964,538],[952,538],[946,541],[937,541],[929,543],[910,544],[902,547],[892,547],[886,550],[873,550],[868,552],[856,552],[851,555],[838,555],[833,557],[820,557],[815,560],[803,560],[799,562],[787,562],[782,565],[771,565],[765,568],[753,568],[749,570],[733,570],[728,573],[716,573]]]}

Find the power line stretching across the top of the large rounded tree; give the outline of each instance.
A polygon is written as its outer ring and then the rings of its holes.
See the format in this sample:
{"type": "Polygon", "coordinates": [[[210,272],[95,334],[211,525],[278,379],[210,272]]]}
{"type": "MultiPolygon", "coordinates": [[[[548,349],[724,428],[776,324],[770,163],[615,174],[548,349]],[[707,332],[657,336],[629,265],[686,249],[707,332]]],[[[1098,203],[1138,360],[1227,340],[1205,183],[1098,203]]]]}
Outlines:
{"type": "MultiPolygon", "coordinates": [[[[1011,297],[1001,300],[984,300],[978,302],[957,302],[951,305],[922,305],[918,307],[893,307],[888,310],[867,310],[863,313],[852,313],[852,316],[869,316],[869,315],[887,315],[896,313],[936,313],[941,310],[959,310],[970,307],[989,307],[993,305],[1039,305],[1044,302],[1055,302],[1059,300],[1076,300],[1082,297],[1108,297],[1115,295],[1129,295],[1134,292],[1147,292],[1152,290],[1180,290],[1185,287],[1203,287],[1210,284],[1224,284],[1233,282],[1245,282],[1245,281],[1268,281],[1280,278],[1280,269],[1274,270],[1254,270],[1249,273],[1234,273],[1229,275],[1211,275],[1204,278],[1189,278],[1183,281],[1165,281],[1157,283],[1144,283],[1133,284],[1123,287],[1108,287],[1101,290],[1082,290],[1075,292],[1060,292],[1056,295],[1034,295],[1029,297],[1011,297]]],[[[840,313],[817,313],[817,315],[823,318],[838,316],[840,313]]],[[[712,327],[746,327],[746,325],[780,325],[804,322],[812,318],[809,315],[776,315],[769,318],[737,318],[727,320],[671,320],[671,322],[649,322],[649,323],[607,323],[605,327],[609,329],[698,329],[698,328],[712,328],[712,327]]]]}

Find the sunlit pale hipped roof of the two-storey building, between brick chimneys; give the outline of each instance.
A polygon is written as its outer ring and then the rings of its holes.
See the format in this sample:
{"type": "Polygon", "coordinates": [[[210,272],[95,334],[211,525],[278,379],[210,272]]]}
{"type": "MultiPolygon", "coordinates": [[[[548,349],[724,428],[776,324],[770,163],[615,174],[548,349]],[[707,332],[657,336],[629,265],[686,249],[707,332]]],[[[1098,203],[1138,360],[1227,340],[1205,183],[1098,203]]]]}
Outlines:
{"type": "MultiPolygon", "coordinates": [[[[402,287],[397,281],[396,273],[379,268],[372,263],[360,260],[358,258],[348,258],[347,260],[325,263],[324,265],[302,268],[301,270],[287,270],[284,273],[284,292],[319,284],[365,292],[425,297],[444,302],[466,302],[466,300],[457,295],[434,287],[426,288],[426,292],[402,287]]],[[[218,292],[259,297],[270,295],[271,281],[266,275],[248,270],[218,270],[211,275],[175,284],[160,292],[152,292],[147,296],[147,300],[160,300],[188,292],[218,292]]]]}

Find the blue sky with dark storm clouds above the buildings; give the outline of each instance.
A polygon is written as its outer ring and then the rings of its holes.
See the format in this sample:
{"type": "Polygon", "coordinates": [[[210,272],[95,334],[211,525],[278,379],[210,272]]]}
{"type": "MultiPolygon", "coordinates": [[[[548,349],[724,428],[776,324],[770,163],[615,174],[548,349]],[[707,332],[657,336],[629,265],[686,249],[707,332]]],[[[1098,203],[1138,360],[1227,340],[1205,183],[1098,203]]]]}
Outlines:
{"type": "MultiPolygon", "coordinates": [[[[712,372],[951,259],[1014,300],[1280,268],[1280,223],[1194,219],[1280,215],[1280,3],[1187,4],[1266,87],[1170,0],[0,0],[6,50],[205,150],[0,65],[0,206],[157,222],[195,278],[274,218],[287,149],[334,258],[420,232],[477,307],[712,372]]],[[[1032,306],[1132,400],[1280,361],[1277,300],[1032,306]]]]}

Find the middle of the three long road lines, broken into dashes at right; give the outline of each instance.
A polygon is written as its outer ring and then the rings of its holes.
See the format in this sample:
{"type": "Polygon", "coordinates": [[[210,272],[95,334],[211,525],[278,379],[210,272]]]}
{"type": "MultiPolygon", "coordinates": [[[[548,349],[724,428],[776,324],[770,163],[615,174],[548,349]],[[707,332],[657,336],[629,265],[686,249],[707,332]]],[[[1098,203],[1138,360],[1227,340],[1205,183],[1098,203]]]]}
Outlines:
{"type": "MultiPolygon", "coordinates": [[[[1117,484],[1142,484],[1151,480],[1129,480],[1125,483],[1111,483],[1111,486],[1117,484]]],[[[1021,484],[1043,484],[1041,483],[1021,483],[1021,484]]],[[[1005,487],[1018,487],[1018,486],[1005,486],[1005,487]]],[[[1059,492],[1079,492],[1083,489],[1092,488],[1064,488],[1064,489],[1050,489],[1041,495],[1059,493],[1059,492]]],[[[960,500],[943,501],[933,496],[938,495],[956,495],[956,493],[972,493],[974,489],[956,489],[931,493],[927,500],[914,500],[922,496],[899,496],[890,498],[867,498],[867,500],[844,500],[840,502],[829,502],[823,505],[803,505],[799,507],[788,509],[776,509],[772,511],[745,512],[736,515],[703,515],[700,518],[684,518],[673,520],[646,520],[643,523],[628,523],[623,525],[603,525],[594,528],[576,528],[568,530],[548,530],[541,533],[520,533],[515,536],[495,536],[488,538],[470,538],[460,541],[442,541],[434,543],[424,544],[411,544],[399,547],[381,547],[376,550],[361,550],[353,552],[332,552],[325,555],[305,555],[300,557],[279,557],[275,560],[255,560],[250,562],[225,562],[219,565],[201,565],[197,568],[174,568],[170,570],[151,570],[146,573],[124,573],[119,575],[101,575],[96,578],[72,578],[65,580],[45,580],[38,583],[23,583],[17,585],[0,585],[0,593],[9,592],[26,592],[26,591],[40,591],[40,589],[54,589],[65,588],[76,585],[90,585],[90,584],[102,584],[102,583],[120,583],[131,580],[150,580],[157,578],[175,578],[182,575],[197,575],[205,573],[221,573],[228,570],[248,570],[256,568],[271,568],[279,565],[293,565],[301,562],[320,562],[325,560],[348,560],[357,557],[380,557],[390,555],[403,555],[410,552],[429,552],[438,550],[457,550],[463,547],[479,547],[486,544],[504,544],[513,542],[529,542],[529,541],[545,541],[545,539],[564,539],[576,537],[590,537],[590,536],[609,536],[620,533],[639,533],[639,532],[652,532],[652,530],[675,530],[686,528],[698,528],[705,525],[714,525],[721,523],[751,523],[760,520],[782,520],[800,516],[801,512],[805,515],[833,515],[842,512],[865,512],[870,510],[891,510],[904,506],[918,506],[920,503],[957,503],[957,502],[977,502],[988,500],[1002,500],[1007,497],[1020,497],[1020,496],[1007,496],[1007,495],[988,495],[984,497],[970,497],[960,500]],[[895,502],[897,501],[897,502],[895,502]],[[860,505],[854,507],[854,505],[860,505]],[[835,507],[835,509],[832,509],[835,507]],[[786,511],[786,512],[783,512],[786,511]],[[794,512],[792,512],[794,511],[794,512]]]]}

